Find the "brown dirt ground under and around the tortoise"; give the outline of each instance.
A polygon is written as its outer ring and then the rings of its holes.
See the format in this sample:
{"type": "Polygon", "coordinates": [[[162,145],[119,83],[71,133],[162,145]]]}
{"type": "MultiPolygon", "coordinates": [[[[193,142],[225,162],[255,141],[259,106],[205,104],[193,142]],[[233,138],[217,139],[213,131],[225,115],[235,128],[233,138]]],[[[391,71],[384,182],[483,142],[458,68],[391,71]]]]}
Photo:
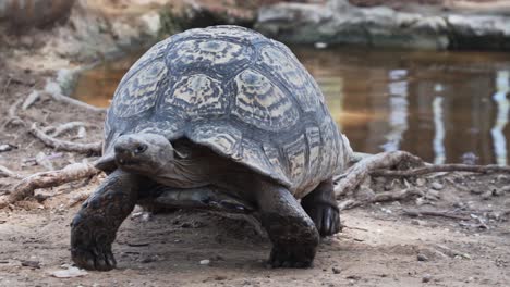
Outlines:
{"type": "MultiPolygon", "coordinates": [[[[10,51],[16,61],[0,58],[0,165],[20,177],[97,159],[46,147],[28,134],[33,123],[83,121],[89,123],[86,137],[76,138],[74,130],[60,138],[92,142],[101,139],[105,116],[41,92],[34,105],[13,110],[22,121],[12,118],[13,104],[42,90],[57,76],[54,66],[83,64],[65,55],[50,63],[54,59],[40,51],[34,58],[29,46],[10,51]],[[34,61],[42,64],[32,67],[34,61]]],[[[344,210],[343,232],[323,240],[313,269],[267,269],[267,237],[241,220],[197,211],[146,216],[136,210],[113,246],[118,269],[57,278],[54,271],[72,265],[72,216],[102,178],[39,189],[0,210],[0,286],[510,286],[510,175],[465,173],[374,178],[359,199],[406,188],[422,195],[344,210]],[[413,217],[410,211],[444,216],[413,217]]],[[[0,175],[0,196],[17,182],[0,175]]]]}

